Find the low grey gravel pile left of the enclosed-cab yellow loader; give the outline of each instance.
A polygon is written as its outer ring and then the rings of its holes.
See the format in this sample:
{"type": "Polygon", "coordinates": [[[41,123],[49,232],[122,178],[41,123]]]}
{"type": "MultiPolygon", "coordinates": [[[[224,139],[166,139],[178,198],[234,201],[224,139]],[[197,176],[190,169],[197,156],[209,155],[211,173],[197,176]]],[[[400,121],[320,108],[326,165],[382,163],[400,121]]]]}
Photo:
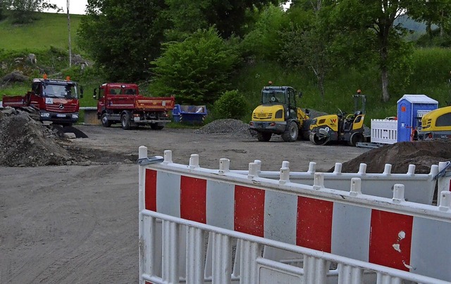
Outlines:
{"type": "Polygon", "coordinates": [[[251,136],[249,124],[241,120],[214,120],[204,127],[196,129],[196,134],[238,134],[251,136]]]}

